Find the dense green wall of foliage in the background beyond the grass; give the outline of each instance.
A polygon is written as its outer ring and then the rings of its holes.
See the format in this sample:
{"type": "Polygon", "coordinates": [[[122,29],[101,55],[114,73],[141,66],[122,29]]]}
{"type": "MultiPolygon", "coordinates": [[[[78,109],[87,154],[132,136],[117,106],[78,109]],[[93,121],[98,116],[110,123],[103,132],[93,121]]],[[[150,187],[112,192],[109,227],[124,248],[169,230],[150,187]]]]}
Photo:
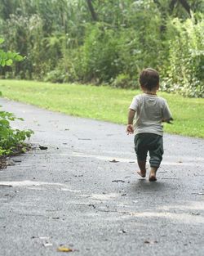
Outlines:
{"type": "Polygon", "coordinates": [[[163,90],[203,97],[203,1],[89,2],[2,0],[4,47],[26,56],[3,77],[116,86],[124,74],[131,87],[150,66],[163,90]]]}

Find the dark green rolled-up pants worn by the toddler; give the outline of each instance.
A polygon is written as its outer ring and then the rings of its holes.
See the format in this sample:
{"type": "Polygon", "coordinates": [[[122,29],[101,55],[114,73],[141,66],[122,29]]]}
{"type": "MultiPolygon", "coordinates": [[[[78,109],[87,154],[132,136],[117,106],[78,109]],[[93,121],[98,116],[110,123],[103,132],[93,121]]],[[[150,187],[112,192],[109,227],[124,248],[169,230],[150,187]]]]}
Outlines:
{"type": "Polygon", "coordinates": [[[163,137],[154,133],[138,133],[135,135],[135,153],[137,159],[146,161],[149,151],[149,164],[151,167],[159,167],[163,155],[163,137]]]}

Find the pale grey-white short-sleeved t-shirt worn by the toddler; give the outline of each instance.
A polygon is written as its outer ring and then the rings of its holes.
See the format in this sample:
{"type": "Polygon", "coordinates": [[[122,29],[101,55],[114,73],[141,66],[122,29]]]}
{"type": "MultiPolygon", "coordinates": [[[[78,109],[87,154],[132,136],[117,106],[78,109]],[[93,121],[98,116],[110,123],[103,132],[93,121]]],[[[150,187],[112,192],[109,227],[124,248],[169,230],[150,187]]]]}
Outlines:
{"type": "Polygon", "coordinates": [[[163,135],[162,119],[171,119],[167,102],[162,97],[140,94],[133,98],[130,106],[135,110],[134,133],[150,132],[163,135]]]}

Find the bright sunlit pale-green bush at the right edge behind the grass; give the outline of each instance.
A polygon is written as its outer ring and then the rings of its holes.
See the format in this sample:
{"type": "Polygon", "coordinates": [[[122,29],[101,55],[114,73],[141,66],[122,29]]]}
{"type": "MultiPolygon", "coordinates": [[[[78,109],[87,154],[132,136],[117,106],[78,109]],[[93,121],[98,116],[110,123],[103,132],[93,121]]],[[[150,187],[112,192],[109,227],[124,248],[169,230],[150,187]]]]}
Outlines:
{"type": "MultiPolygon", "coordinates": [[[[203,16],[204,18],[204,16],[203,16]]],[[[169,63],[162,89],[188,97],[204,97],[204,19],[170,21],[169,63]]]]}

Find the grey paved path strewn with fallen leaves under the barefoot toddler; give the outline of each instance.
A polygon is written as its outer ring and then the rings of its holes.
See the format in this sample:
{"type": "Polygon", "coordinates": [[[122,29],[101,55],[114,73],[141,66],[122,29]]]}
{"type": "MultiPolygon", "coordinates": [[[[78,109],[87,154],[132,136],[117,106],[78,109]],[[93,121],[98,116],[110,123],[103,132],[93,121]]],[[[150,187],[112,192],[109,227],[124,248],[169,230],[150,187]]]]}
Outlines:
{"type": "Polygon", "coordinates": [[[0,105],[35,131],[35,149],[0,171],[1,256],[64,255],[60,245],[76,256],[204,255],[204,140],[166,134],[148,182],[124,126],[0,105]]]}

